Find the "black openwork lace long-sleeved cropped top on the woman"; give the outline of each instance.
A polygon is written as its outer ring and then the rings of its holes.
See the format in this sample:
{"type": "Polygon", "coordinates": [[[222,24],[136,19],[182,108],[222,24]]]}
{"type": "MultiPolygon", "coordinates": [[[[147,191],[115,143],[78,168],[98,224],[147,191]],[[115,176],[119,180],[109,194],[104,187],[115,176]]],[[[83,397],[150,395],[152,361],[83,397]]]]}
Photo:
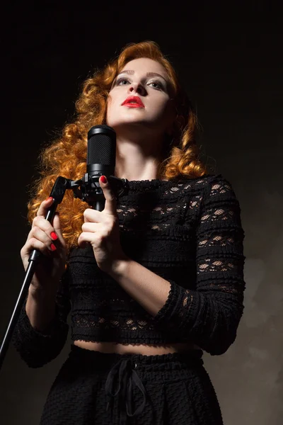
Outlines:
{"type": "Polygon", "coordinates": [[[66,340],[121,344],[193,342],[211,355],[236,339],[243,314],[244,232],[241,208],[221,174],[182,181],[129,181],[117,199],[120,241],[129,258],[168,280],[165,305],[152,316],[107,273],[91,247],[72,249],[45,334],[25,305],[13,344],[30,367],[57,357],[66,340]]]}

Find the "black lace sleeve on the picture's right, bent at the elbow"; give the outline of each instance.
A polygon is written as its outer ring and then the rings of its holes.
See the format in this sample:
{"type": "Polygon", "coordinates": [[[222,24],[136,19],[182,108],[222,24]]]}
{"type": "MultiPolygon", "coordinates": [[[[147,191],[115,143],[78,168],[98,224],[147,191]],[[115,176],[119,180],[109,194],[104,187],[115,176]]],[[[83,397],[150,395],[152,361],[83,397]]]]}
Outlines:
{"type": "Polygon", "coordinates": [[[154,322],[189,337],[212,356],[225,353],[236,339],[244,309],[243,239],[233,188],[215,176],[204,193],[196,229],[196,290],[170,280],[168,299],[154,322]]]}

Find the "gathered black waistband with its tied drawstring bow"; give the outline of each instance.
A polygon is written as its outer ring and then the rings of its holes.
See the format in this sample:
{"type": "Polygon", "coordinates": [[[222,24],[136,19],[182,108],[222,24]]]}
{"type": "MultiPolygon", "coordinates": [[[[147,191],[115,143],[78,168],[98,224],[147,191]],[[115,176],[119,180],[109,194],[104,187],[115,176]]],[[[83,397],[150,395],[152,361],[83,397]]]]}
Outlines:
{"type": "Polygon", "coordinates": [[[144,356],[143,354],[119,354],[101,353],[100,351],[88,350],[71,345],[69,357],[83,365],[92,365],[98,370],[109,370],[105,382],[106,412],[113,408],[114,398],[119,395],[119,406],[121,414],[126,419],[127,416],[137,416],[143,412],[146,406],[147,393],[141,378],[146,381],[155,382],[155,373],[166,375],[172,372],[176,379],[183,377],[183,370],[188,366],[197,367],[203,365],[202,350],[192,350],[187,353],[168,353],[154,356],[144,356]],[[142,394],[142,402],[133,412],[132,394],[134,385],[142,394]],[[115,390],[117,387],[117,390],[115,390]]]}

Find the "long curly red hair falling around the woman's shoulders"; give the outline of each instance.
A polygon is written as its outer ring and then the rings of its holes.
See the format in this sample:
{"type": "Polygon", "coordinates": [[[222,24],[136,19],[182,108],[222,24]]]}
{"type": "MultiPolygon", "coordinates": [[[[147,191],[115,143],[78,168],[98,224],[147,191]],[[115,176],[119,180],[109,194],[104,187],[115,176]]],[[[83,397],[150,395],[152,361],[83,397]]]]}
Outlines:
{"type": "MultiPolygon", "coordinates": [[[[28,203],[30,223],[42,200],[50,195],[57,176],[79,180],[85,174],[88,130],[93,125],[106,124],[106,108],[112,82],[127,62],[139,57],[156,60],[163,65],[171,81],[175,99],[176,118],[173,138],[170,144],[165,142],[165,159],[159,164],[159,174],[168,180],[207,174],[207,169],[200,160],[200,152],[195,140],[197,118],[185,91],[178,83],[178,77],[171,63],[161,53],[156,42],[131,43],[125,46],[120,55],[108,63],[104,69],[95,72],[91,78],[84,81],[81,94],[76,101],[74,122],[65,125],[62,136],[42,149],[39,158],[40,179],[33,183],[31,188],[33,195],[28,203]]],[[[74,198],[72,191],[66,191],[62,203],[58,205],[62,233],[68,249],[71,246],[77,246],[83,224],[83,211],[86,208],[88,205],[74,198]]]]}

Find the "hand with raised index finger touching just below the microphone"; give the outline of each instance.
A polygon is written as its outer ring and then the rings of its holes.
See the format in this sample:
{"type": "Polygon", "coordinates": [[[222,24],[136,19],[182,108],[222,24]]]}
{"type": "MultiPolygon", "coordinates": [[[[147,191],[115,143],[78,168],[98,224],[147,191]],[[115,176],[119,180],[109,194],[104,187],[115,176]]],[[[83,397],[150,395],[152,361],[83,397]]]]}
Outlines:
{"type": "Polygon", "coordinates": [[[120,260],[127,259],[120,245],[119,217],[117,215],[116,198],[109,182],[99,179],[100,187],[105,196],[103,211],[87,208],[83,212],[84,223],[81,226],[78,244],[81,247],[89,242],[100,270],[106,273],[117,265],[120,260]]]}

